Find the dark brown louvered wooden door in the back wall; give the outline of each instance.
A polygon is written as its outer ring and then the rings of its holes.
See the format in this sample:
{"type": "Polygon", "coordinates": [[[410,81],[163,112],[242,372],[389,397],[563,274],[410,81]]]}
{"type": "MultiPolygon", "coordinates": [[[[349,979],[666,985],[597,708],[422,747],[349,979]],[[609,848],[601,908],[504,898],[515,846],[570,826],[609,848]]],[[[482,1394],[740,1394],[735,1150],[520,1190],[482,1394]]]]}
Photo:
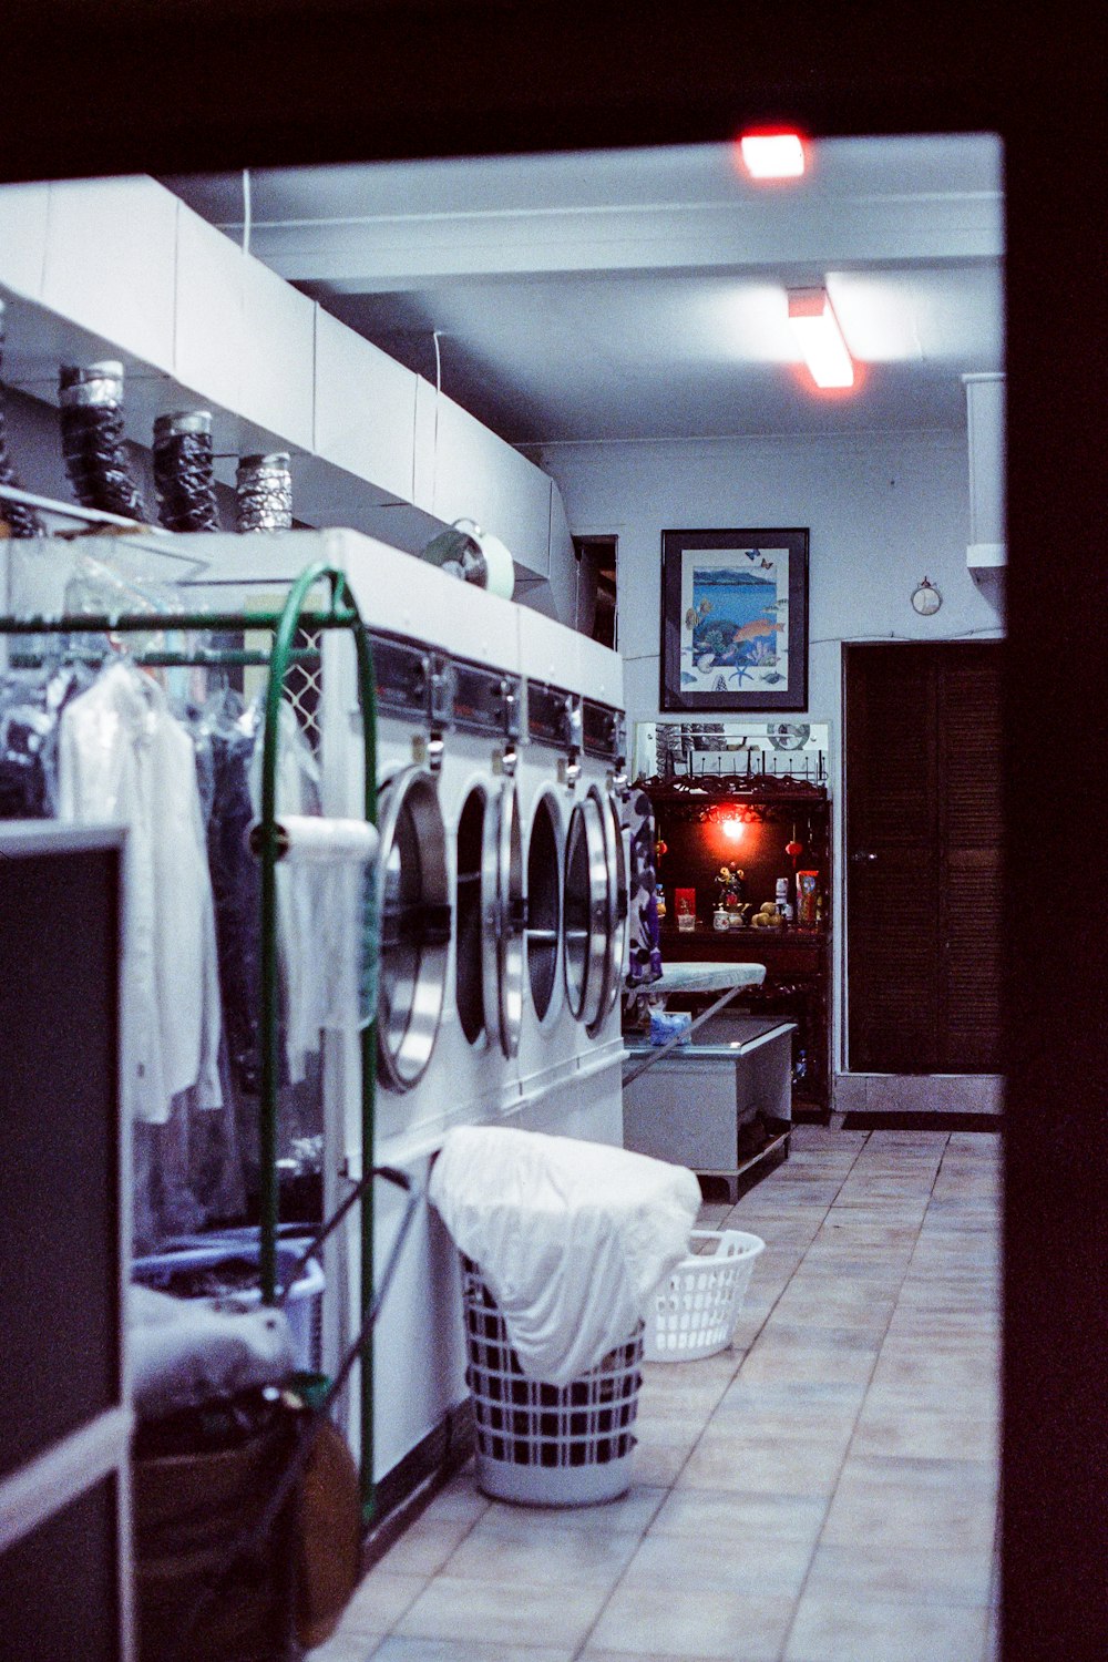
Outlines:
{"type": "Polygon", "coordinates": [[[844,648],[852,1072],[1000,1069],[1000,650],[844,648]]]}

